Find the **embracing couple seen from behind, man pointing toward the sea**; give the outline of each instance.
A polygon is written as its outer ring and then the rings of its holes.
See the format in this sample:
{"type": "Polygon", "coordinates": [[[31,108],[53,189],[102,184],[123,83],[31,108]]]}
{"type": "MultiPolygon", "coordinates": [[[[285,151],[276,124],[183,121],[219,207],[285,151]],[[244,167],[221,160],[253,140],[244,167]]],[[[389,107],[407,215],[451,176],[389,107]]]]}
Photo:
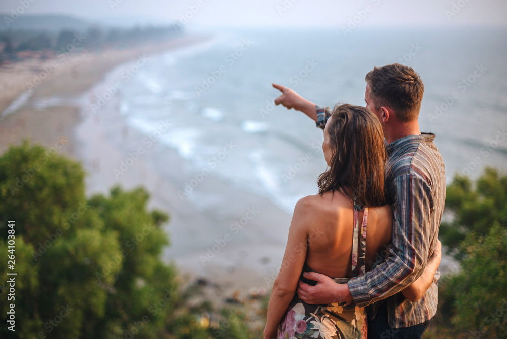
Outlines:
{"type": "Polygon", "coordinates": [[[366,75],[366,108],[333,111],[292,89],[275,103],[324,130],[328,169],[298,201],[271,292],[265,338],[421,338],[437,311],[444,162],[421,133],[419,75],[366,75]]]}

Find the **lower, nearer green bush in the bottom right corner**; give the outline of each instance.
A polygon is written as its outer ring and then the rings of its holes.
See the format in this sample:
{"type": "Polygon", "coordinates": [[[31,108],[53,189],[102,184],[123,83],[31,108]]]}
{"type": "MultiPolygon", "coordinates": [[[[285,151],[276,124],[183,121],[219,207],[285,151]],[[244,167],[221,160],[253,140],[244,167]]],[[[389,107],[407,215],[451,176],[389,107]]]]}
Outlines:
{"type": "Polygon", "coordinates": [[[462,272],[441,285],[443,324],[454,334],[507,338],[507,230],[494,223],[489,234],[465,241],[462,272]]]}

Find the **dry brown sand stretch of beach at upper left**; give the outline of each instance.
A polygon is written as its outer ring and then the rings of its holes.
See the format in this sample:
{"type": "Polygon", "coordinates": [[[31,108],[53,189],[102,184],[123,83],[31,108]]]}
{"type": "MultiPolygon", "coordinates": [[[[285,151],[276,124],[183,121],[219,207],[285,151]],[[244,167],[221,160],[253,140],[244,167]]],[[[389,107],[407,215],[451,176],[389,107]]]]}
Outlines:
{"type": "MultiPolygon", "coordinates": [[[[47,147],[53,146],[58,136],[73,139],[74,126],[81,117],[82,96],[101,82],[108,72],[137,58],[140,53],[160,54],[205,39],[183,36],[124,50],[73,54],[54,67],[51,62],[55,65],[55,59],[25,60],[0,67],[0,88],[3,89],[0,95],[0,153],[10,144],[18,145],[25,138],[47,147]],[[44,74],[43,81],[29,91],[27,84],[35,78],[41,79],[44,74]],[[30,104],[35,104],[35,107],[30,107],[30,104]],[[59,114],[51,111],[55,107],[58,107],[59,114]]],[[[73,156],[76,145],[70,142],[69,146],[64,147],[62,152],[73,156]]]]}

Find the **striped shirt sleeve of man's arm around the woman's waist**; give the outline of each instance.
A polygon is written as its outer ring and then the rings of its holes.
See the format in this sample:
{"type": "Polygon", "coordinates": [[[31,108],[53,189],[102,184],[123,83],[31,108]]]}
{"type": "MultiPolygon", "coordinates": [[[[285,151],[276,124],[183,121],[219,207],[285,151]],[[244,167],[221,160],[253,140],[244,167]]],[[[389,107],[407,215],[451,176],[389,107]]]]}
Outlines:
{"type": "Polygon", "coordinates": [[[395,202],[392,244],[386,260],[348,282],[357,306],[365,307],[394,295],[414,282],[428,260],[433,230],[430,229],[432,194],[420,177],[407,174],[394,179],[395,202]]]}

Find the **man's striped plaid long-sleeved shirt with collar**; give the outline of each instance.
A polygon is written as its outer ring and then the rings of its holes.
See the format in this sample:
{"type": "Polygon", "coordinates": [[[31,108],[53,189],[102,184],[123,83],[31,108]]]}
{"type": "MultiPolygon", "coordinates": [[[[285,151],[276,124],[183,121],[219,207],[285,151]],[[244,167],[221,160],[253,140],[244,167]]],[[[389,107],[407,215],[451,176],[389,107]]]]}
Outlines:
{"type": "MultiPolygon", "coordinates": [[[[329,108],[317,106],[317,127],[323,128],[330,116],[329,108]]],[[[359,307],[386,299],[392,328],[424,323],[437,312],[440,272],[419,301],[411,302],[401,293],[426,267],[444,211],[444,161],[434,138],[434,134],[409,135],[387,146],[386,185],[394,213],[392,244],[385,261],[348,282],[359,307]]],[[[375,315],[378,304],[369,310],[369,315],[375,315]]]]}

